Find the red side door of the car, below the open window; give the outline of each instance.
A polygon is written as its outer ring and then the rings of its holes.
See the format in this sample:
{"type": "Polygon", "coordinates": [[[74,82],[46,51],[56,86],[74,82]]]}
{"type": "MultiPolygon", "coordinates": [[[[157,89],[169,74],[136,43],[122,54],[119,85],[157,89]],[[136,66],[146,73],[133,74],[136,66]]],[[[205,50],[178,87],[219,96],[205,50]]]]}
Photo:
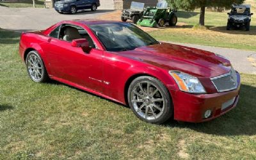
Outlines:
{"type": "MultiPolygon", "coordinates": [[[[86,30],[83,29],[83,32],[87,39],[90,38],[86,30]]],[[[71,42],[61,40],[60,37],[51,38],[49,44],[51,48],[47,59],[53,76],[102,92],[103,51],[92,46],[89,52],[84,52],[82,48],[72,47],[71,42]]]]}

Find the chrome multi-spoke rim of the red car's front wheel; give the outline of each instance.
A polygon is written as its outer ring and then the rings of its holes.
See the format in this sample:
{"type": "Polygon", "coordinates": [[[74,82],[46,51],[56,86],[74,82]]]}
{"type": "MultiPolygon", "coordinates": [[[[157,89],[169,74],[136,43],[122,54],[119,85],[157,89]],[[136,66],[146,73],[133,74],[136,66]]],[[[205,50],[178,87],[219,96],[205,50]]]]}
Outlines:
{"type": "Polygon", "coordinates": [[[131,102],[141,118],[156,120],[164,111],[163,93],[154,84],[142,81],[132,88],[131,102]]]}

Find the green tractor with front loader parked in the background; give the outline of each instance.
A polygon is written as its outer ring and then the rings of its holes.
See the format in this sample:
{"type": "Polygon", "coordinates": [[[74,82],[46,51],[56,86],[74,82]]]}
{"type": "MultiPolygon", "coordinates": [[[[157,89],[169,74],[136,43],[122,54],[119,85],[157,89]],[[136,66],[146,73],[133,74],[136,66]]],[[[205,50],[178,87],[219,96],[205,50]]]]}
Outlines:
{"type": "Polygon", "coordinates": [[[139,26],[147,27],[163,27],[166,22],[169,26],[175,26],[177,24],[178,18],[175,14],[176,10],[170,10],[168,8],[168,3],[166,1],[159,1],[157,6],[154,8],[147,8],[137,24],[139,26]]]}

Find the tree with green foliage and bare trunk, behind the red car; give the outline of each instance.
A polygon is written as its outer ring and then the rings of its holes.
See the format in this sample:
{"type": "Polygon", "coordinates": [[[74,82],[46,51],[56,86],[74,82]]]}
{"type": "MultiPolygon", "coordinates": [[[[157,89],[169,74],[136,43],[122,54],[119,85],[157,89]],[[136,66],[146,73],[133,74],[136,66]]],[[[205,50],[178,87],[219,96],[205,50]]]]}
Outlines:
{"type": "Polygon", "coordinates": [[[199,24],[204,26],[205,7],[223,7],[229,9],[232,4],[242,4],[245,0],[168,0],[172,7],[182,10],[195,10],[200,8],[199,24]]]}

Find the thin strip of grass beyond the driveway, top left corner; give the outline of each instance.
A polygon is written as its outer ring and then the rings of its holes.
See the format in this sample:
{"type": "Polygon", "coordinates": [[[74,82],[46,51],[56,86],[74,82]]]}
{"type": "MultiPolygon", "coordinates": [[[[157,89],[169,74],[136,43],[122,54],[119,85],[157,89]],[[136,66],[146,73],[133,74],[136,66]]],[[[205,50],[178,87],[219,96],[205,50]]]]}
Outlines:
{"type": "MultiPolygon", "coordinates": [[[[27,8],[33,7],[32,0],[20,0],[16,3],[0,2],[0,6],[6,6],[10,8],[27,8]]],[[[44,8],[44,0],[36,0],[36,8],[44,8]]]]}

